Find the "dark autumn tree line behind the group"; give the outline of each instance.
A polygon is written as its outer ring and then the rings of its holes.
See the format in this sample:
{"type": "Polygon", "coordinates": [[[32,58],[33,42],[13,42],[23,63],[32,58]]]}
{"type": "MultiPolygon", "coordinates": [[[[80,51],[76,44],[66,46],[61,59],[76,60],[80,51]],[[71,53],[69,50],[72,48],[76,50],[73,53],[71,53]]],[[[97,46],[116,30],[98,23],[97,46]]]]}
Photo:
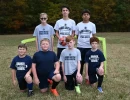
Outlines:
{"type": "Polygon", "coordinates": [[[0,0],[0,34],[32,32],[41,12],[54,26],[63,5],[70,7],[70,18],[76,23],[82,21],[82,10],[89,9],[97,32],[130,31],[130,0],[0,0]]]}

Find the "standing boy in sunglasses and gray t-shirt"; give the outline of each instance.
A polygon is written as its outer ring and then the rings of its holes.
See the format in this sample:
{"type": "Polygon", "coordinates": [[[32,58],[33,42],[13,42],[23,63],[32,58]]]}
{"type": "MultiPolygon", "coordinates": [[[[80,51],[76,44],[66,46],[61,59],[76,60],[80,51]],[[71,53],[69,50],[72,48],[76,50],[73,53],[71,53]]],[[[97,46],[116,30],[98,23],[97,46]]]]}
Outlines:
{"type": "Polygon", "coordinates": [[[47,24],[48,15],[46,13],[40,14],[41,24],[36,26],[33,36],[36,37],[36,48],[37,51],[42,50],[40,46],[40,41],[43,38],[48,38],[50,40],[49,50],[53,51],[53,35],[55,34],[54,29],[51,25],[47,24]]]}

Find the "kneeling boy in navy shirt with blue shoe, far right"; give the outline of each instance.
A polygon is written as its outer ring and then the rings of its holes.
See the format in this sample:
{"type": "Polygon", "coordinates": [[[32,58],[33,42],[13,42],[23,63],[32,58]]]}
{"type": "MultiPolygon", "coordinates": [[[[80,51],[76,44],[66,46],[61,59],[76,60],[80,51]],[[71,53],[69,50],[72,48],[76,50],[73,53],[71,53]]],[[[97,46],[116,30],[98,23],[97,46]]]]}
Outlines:
{"type": "Polygon", "coordinates": [[[92,87],[95,86],[95,83],[98,80],[97,89],[100,93],[103,93],[101,85],[103,82],[103,62],[105,61],[105,57],[98,49],[99,39],[97,37],[91,37],[90,44],[92,49],[85,55],[86,79],[89,80],[92,87]]]}

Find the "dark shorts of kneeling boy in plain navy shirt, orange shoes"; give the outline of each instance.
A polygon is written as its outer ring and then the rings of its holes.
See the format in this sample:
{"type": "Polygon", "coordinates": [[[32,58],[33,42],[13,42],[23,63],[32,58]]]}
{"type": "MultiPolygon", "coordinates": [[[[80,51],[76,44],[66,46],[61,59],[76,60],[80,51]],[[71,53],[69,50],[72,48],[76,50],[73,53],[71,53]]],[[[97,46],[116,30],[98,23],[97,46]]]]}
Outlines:
{"type": "Polygon", "coordinates": [[[40,89],[48,88],[49,87],[49,82],[47,80],[52,79],[52,77],[54,75],[55,75],[54,71],[50,72],[49,75],[44,75],[44,76],[39,76],[38,75],[38,79],[40,81],[39,88],[40,89]]]}

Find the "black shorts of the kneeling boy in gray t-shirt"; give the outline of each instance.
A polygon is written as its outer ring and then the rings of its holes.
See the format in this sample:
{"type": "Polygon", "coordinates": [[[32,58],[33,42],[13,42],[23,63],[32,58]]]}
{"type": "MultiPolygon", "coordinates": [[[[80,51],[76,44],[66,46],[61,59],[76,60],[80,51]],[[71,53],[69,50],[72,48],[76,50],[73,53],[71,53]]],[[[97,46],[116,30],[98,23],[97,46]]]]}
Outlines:
{"type": "Polygon", "coordinates": [[[76,82],[77,70],[72,75],[66,75],[67,82],[65,82],[66,90],[74,90],[76,82]]]}

